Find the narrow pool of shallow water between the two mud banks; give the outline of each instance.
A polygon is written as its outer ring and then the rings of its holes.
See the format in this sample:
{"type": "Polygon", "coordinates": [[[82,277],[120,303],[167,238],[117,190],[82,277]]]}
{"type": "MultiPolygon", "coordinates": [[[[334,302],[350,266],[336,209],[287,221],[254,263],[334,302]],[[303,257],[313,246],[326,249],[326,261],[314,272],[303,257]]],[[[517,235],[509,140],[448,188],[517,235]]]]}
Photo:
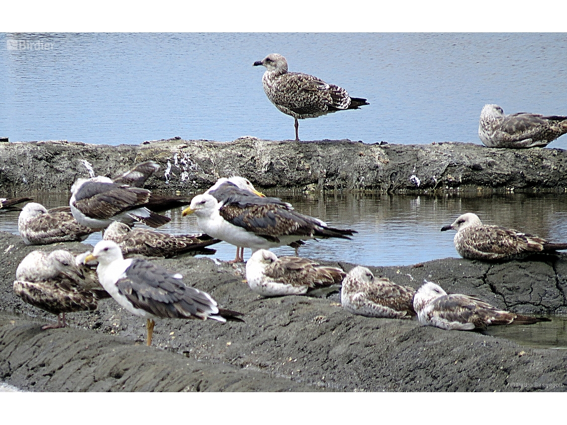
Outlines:
{"type": "MultiPolygon", "coordinates": [[[[29,196],[46,207],[65,205],[68,192],[32,193],[29,196]]],[[[318,217],[329,226],[352,228],[358,233],[352,240],[307,241],[300,249],[304,257],[356,264],[393,266],[410,265],[436,258],[458,257],[452,243],[454,233],[440,232],[460,214],[473,212],[484,223],[500,224],[535,233],[552,240],[567,241],[567,197],[565,195],[531,196],[510,194],[485,197],[374,196],[352,194],[311,197],[282,197],[303,214],[318,217]]],[[[18,233],[18,211],[0,214],[0,228],[18,233]]],[[[194,216],[181,217],[181,210],[169,211],[171,222],[160,228],[175,234],[200,232],[194,216]]],[[[95,244],[100,233],[86,243],[95,244]]],[[[232,245],[222,243],[219,260],[231,260],[232,245]]],[[[274,249],[290,255],[289,247],[274,249]]],[[[246,250],[245,258],[248,258],[246,250]]]]}

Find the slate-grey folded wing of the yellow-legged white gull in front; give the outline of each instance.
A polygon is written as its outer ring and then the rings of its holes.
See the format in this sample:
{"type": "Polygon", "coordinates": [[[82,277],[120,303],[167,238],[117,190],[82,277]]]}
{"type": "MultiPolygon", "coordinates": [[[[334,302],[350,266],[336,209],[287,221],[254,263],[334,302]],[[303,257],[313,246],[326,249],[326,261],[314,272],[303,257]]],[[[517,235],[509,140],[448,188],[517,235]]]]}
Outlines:
{"type": "Polygon", "coordinates": [[[149,261],[134,259],[126,277],[116,286],[134,307],[157,317],[201,318],[218,313],[215,301],[206,292],[183,283],[179,274],[171,273],[149,261]]]}

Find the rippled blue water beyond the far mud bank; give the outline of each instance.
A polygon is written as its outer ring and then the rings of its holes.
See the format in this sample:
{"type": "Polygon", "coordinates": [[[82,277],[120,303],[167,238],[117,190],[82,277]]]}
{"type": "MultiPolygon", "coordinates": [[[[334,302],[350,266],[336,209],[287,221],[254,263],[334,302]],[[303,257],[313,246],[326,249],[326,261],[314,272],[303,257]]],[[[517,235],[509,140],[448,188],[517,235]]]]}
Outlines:
{"type": "MultiPolygon", "coordinates": [[[[485,103],[567,114],[565,34],[0,34],[0,136],[293,138],[293,119],[264,94],[264,67],[252,66],[273,52],[370,102],[303,120],[304,140],[480,143],[485,103]]],[[[567,136],[551,147],[567,148],[567,136]]]]}

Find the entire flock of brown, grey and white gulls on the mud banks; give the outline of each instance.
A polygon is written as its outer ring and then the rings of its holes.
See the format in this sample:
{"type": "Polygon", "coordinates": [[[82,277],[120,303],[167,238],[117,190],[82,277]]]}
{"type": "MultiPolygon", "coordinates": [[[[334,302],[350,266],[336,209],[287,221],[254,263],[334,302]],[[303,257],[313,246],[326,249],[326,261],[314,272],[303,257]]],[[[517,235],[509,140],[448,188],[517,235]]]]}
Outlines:
{"type": "MultiPolygon", "coordinates": [[[[368,105],[350,97],[341,87],[312,75],[290,73],[286,59],[270,54],[255,66],[265,66],[263,86],[276,107],[298,120],[368,105]]],[[[479,136],[489,147],[545,146],[567,133],[567,117],[517,113],[505,116],[497,105],[485,105],[479,136]]],[[[14,291],[26,303],[58,316],[94,310],[98,301],[113,298],[134,315],[146,318],[147,345],[151,345],[155,318],[244,321],[243,314],[220,308],[209,294],[184,281],[177,271],[164,269],[145,257],[174,257],[188,252],[210,253],[210,245],[226,241],[236,247],[235,259],[244,261],[244,248],[252,250],[246,262],[249,288],[261,296],[325,296],[341,292],[341,304],[355,315],[411,319],[441,329],[472,330],[488,325],[548,320],[502,311],[470,295],[447,294],[433,282],[420,288],[403,286],[375,277],[366,267],[349,273],[298,257],[297,249],[311,239],[351,239],[355,230],[328,226],[322,220],[298,213],[287,202],[266,197],[244,177],[219,179],[205,193],[191,200],[159,196],[143,188],[159,169],[153,161],[138,164],[122,175],[78,179],[71,186],[69,206],[47,210],[39,203],[23,207],[18,230],[26,245],[82,241],[103,231],[92,252],[74,256],[65,250],[49,254],[35,250],[18,266],[14,291]],[[204,232],[169,235],[136,228],[144,223],[158,228],[170,218],[160,213],[185,207],[183,216],[194,214],[204,232]],[[269,249],[289,245],[296,256],[278,258],[269,249]],[[96,269],[95,269],[96,267],[96,269]]],[[[0,208],[14,208],[30,198],[0,198],[0,208]]],[[[480,261],[508,261],[535,253],[554,253],[567,244],[552,243],[500,226],[481,223],[472,213],[459,216],[441,229],[455,230],[460,256],[480,261]]]]}

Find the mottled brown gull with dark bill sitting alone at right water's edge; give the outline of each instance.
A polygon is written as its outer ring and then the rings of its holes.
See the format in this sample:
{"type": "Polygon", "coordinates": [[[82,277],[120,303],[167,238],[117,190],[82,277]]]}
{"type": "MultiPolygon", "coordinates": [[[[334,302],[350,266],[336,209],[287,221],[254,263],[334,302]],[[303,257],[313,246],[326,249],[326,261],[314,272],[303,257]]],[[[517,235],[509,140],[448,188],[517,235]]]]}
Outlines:
{"type": "Polygon", "coordinates": [[[558,249],[567,249],[567,244],[552,243],[528,233],[514,229],[481,223],[479,216],[466,213],[441,231],[456,230],[453,239],[455,249],[463,258],[470,260],[514,260],[531,254],[552,254],[558,249]]]}

